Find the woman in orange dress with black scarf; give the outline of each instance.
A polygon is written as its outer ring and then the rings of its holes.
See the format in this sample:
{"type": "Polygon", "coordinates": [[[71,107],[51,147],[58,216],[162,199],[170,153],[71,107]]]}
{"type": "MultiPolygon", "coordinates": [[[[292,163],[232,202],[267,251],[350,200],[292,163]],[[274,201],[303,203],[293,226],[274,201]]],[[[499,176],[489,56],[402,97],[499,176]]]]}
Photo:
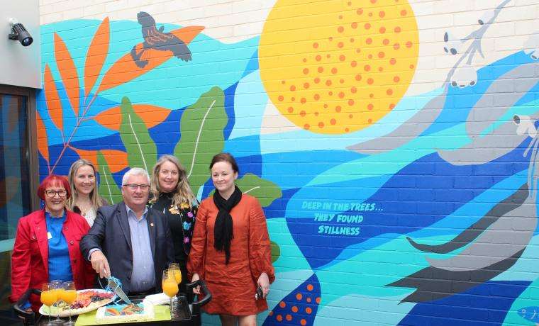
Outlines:
{"type": "Polygon", "coordinates": [[[257,199],[235,186],[232,155],[217,154],[210,169],[216,192],[196,215],[187,270],[191,281],[204,279],[212,294],[206,313],[219,314],[223,325],[256,325],[275,279],[266,218],[257,199]],[[255,299],[258,286],[263,296],[255,299]]]}

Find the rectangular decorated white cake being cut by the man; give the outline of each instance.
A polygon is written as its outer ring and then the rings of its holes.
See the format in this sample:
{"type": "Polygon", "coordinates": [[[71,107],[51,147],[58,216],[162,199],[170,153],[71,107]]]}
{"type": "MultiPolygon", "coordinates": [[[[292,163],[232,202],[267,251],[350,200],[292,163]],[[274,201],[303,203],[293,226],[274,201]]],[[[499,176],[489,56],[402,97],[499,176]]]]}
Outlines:
{"type": "Polygon", "coordinates": [[[144,300],[142,303],[105,305],[97,310],[96,323],[146,322],[154,317],[153,305],[144,300]]]}

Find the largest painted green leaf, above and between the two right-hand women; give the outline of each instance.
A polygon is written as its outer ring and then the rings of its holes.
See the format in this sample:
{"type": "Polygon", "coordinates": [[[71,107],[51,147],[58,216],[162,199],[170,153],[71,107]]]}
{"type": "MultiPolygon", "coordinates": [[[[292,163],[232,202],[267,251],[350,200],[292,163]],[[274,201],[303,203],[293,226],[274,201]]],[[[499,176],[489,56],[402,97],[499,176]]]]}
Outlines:
{"type": "Polygon", "coordinates": [[[223,151],[223,129],[227,123],[225,94],[217,86],[202,94],[182,115],[182,137],[174,148],[174,155],[185,167],[195,195],[209,178],[213,155],[223,151]]]}

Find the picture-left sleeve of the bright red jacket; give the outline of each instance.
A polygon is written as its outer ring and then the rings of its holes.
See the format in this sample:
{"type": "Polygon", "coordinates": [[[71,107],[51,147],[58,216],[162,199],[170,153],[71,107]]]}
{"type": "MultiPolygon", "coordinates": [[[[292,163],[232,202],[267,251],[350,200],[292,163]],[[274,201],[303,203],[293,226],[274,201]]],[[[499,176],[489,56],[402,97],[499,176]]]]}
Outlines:
{"type": "Polygon", "coordinates": [[[13,254],[11,254],[11,296],[16,302],[30,288],[30,227],[26,219],[19,220],[13,254]]]}

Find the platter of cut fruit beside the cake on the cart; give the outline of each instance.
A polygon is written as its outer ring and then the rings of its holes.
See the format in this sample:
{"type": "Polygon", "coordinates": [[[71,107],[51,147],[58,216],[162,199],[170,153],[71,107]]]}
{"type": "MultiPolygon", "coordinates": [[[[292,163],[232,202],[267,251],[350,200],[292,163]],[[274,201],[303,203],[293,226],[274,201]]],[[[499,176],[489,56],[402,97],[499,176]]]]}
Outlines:
{"type": "Polygon", "coordinates": [[[74,300],[72,305],[60,301],[57,305],[50,307],[50,310],[45,305],[42,305],[39,312],[41,315],[57,315],[60,311],[60,317],[67,317],[71,315],[80,315],[82,313],[88,313],[91,310],[111,303],[114,293],[97,288],[79,290],[77,291],[77,299],[74,300]]]}

